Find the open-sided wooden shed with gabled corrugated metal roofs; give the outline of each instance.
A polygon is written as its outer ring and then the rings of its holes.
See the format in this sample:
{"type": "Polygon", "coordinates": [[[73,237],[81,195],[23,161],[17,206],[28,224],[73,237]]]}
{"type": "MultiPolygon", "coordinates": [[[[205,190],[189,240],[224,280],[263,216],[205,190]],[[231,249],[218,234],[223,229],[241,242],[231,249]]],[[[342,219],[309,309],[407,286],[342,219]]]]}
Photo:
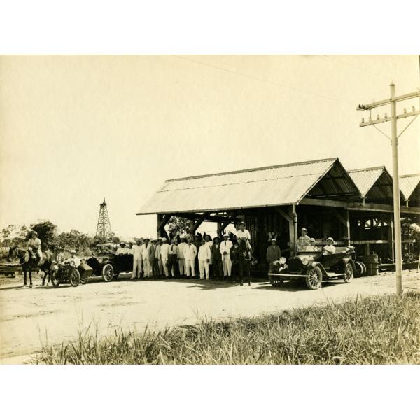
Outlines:
{"type": "MultiPolygon", "coordinates": [[[[418,221],[420,208],[412,204],[419,203],[403,193],[400,200],[402,216],[418,221]]],[[[157,214],[162,237],[171,216],[190,219],[191,232],[204,221],[218,223],[219,233],[245,221],[260,262],[272,237],[293,254],[302,228],[317,244],[332,236],[393,260],[391,175],[385,167],[348,172],[338,158],[171,179],[137,214],[157,214]]]]}

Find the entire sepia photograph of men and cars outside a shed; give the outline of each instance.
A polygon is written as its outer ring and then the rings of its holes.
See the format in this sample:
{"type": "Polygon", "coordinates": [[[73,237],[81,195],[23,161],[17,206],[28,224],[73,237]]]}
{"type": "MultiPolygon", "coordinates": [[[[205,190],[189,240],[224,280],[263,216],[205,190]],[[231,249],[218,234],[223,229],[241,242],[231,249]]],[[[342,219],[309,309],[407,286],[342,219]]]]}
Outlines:
{"type": "Polygon", "coordinates": [[[419,55],[2,55],[1,364],[420,363],[419,55]]]}

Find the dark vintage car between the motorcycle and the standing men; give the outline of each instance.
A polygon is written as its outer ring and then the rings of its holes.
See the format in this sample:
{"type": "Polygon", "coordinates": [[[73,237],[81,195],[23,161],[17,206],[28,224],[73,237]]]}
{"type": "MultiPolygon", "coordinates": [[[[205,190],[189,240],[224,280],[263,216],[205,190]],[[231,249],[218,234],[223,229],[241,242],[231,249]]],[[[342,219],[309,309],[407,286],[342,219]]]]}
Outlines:
{"type": "Polygon", "coordinates": [[[92,268],[92,276],[101,276],[104,281],[117,279],[120,273],[129,273],[133,269],[133,255],[116,255],[116,247],[100,245],[97,255],[86,259],[92,268]]]}

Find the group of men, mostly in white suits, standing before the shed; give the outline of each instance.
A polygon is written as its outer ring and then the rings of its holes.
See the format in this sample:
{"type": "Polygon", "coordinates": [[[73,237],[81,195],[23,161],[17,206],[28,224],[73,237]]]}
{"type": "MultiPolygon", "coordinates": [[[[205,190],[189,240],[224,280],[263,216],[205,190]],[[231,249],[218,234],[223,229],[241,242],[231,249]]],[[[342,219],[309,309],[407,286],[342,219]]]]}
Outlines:
{"type": "MultiPolygon", "coordinates": [[[[225,233],[223,238],[210,235],[182,235],[178,238],[141,238],[136,244],[122,243],[118,255],[133,255],[132,279],[196,277],[204,280],[210,276],[231,279],[235,274],[235,244],[246,242],[251,250],[251,235],[244,222],[235,238],[225,233]],[[233,267],[232,267],[233,266],[233,267]]],[[[237,245],[237,244],[236,244],[237,245]]]]}

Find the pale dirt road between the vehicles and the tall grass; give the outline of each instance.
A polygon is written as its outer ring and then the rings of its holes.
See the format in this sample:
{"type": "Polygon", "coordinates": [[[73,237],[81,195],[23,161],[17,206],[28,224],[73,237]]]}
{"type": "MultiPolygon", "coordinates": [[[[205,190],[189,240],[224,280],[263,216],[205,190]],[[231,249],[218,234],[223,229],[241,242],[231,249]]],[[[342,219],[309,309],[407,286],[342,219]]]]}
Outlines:
{"type": "MultiPolygon", "coordinates": [[[[356,295],[394,293],[395,275],[354,279],[352,283],[330,281],[319,290],[302,283],[273,288],[267,281],[251,287],[206,281],[131,281],[122,276],[111,283],[91,281],[85,286],[34,286],[22,288],[21,277],[0,279],[1,363],[22,363],[41,345],[73,339],[78,330],[98,325],[99,334],[114,327],[141,332],[146,328],[196,323],[204,318],[282,311],[356,295]]],[[[35,285],[41,281],[36,276],[35,285]]],[[[405,288],[419,288],[419,274],[403,272],[405,288]]]]}

